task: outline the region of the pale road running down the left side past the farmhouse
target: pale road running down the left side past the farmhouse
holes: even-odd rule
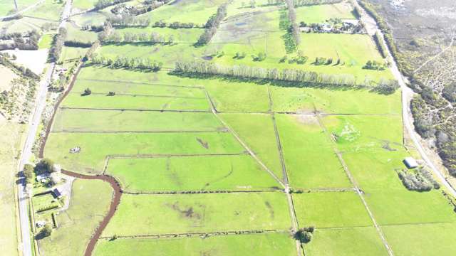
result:
[[[66,25],[66,20],[71,11],[72,1],[69,0],[66,2],[66,6],[63,9],[61,16],[61,23],[59,27],[64,27]],[[36,95],[36,105],[33,110],[33,115],[28,121],[28,134],[26,137],[26,142],[24,144],[24,149],[22,150],[21,159],[19,161],[19,171],[24,169],[24,165],[28,163],[28,160],[32,156],[32,148],[35,142],[36,133],[38,132],[38,125],[41,123],[41,114],[43,114],[44,107],[46,107],[46,93],[48,91],[49,82],[53,75],[54,67],[56,63],[51,63],[49,68],[41,80],[38,88],[38,93]],[[21,174],[23,176],[23,174]],[[32,245],[31,245],[31,233],[30,233],[30,220],[28,218],[28,193],[26,191],[26,184],[24,183],[24,178],[21,179],[21,183],[18,186],[18,196],[19,196],[19,220],[21,222],[21,237],[22,237],[22,255],[31,256],[32,255]]]

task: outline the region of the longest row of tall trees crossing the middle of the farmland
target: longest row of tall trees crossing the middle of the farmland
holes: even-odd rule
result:
[[[319,85],[338,85],[338,86],[366,86],[374,87],[375,82],[366,78],[366,80],[357,84],[356,77],[351,74],[328,75],[306,70],[276,68],[259,68],[246,65],[224,66],[217,63],[202,61],[194,62],[177,62],[175,63],[175,73],[188,75],[227,75],[236,78],[252,78],[261,80],[278,80],[287,82],[311,82]],[[384,85],[397,88],[397,82],[394,80],[383,80]]]

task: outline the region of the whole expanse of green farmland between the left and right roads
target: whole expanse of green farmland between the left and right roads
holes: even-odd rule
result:
[[[37,29],[53,70],[25,167],[33,255],[456,254],[455,198],[410,139],[358,1],[21,15],[0,24]]]

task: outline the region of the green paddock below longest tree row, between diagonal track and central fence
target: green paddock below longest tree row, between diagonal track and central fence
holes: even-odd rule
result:
[[[269,111],[269,97],[266,85],[214,79],[206,80],[204,87],[209,92],[217,111]]]

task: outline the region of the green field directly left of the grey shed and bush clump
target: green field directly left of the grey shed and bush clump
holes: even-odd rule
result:
[[[403,159],[407,156],[404,150],[376,149],[343,154],[343,160],[365,190],[403,189],[397,171],[405,169]]]

